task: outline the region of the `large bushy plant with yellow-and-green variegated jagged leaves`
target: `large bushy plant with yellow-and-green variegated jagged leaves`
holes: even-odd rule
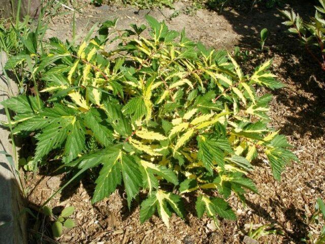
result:
[[[298,161],[267,126],[272,96],[255,93],[283,85],[269,71],[271,60],[244,74],[226,51],[146,18],[150,35],[144,25],[121,31],[116,20],[106,21],[79,46],[52,38],[43,55],[16,60],[33,66],[41,99],[3,103],[16,113],[13,133],[35,137],[36,167],[55,159],[79,170],[76,176],[98,168],[93,203],[118,185],[128,206],[146,194],[141,222],[155,212],[167,226],[172,212],[184,218],[188,194],[197,198],[199,218],[234,220],[226,200],[257,193],[249,178],[257,156],[268,159],[277,180]]]

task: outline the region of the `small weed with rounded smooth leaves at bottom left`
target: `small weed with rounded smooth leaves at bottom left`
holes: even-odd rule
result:
[[[63,227],[67,229],[75,227],[75,222],[72,219],[68,218],[73,215],[74,211],[75,207],[69,206],[64,208],[59,216],[55,216],[53,215],[52,208],[49,206],[43,207],[43,214],[54,219],[54,223],[51,226],[54,237],[60,237],[63,234]]]

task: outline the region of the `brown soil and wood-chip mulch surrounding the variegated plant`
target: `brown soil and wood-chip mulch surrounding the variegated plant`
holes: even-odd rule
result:
[[[82,2],[81,2],[82,3]],[[184,9],[188,3],[177,3],[176,9]],[[301,15],[312,16],[313,6],[294,2],[291,4]],[[288,8],[288,6],[287,6]],[[308,233],[317,234],[320,225],[311,223],[318,197],[325,198],[325,77],[320,68],[304,51],[303,47],[285,33],[279,12],[273,9],[237,11],[224,9],[221,14],[202,9],[193,15],[180,14],[170,19],[174,10],[138,10],[133,7],[86,5],[76,14],[77,33],[85,35],[95,22],[119,17],[118,28],[130,23],[145,23],[144,16],[150,14],[158,20],[165,20],[171,29],[181,31],[184,27],[188,37],[214,48],[241,47],[249,54],[242,66],[251,70],[267,58],[273,58],[273,72],[286,87],[273,93],[270,125],[281,130],[294,146],[294,153],[301,163],[289,165],[277,182],[267,163],[262,159],[255,162],[255,171],[250,176],[259,189],[259,194],[246,195],[243,205],[236,196],[229,203],[237,209],[237,221],[220,220],[219,228],[203,217],[198,220],[193,209],[194,199],[189,196],[186,203],[187,217],[182,220],[171,218],[170,229],[156,216],[144,224],[139,221],[139,205],[134,202],[131,210],[126,206],[125,194],[118,189],[100,203],[90,203],[93,181],[83,178],[56,195],[50,206],[75,206],[73,219],[76,227],[67,231],[59,243],[243,243],[245,234],[265,224],[273,224],[283,233],[267,235],[259,243],[300,243]],[[266,50],[259,51],[259,31],[269,29],[270,36]],[[71,39],[72,14],[56,16],[49,26],[47,37],[57,36]],[[259,91],[261,94],[265,90]],[[43,169],[46,172],[48,169]],[[33,176],[26,173],[26,188],[30,206],[40,206],[62,184],[67,175],[44,176],[44,172]],[[44,222],[47,223],[47,222]],[[32,230],[43,232],[40,238],[30,243],[53,243],[46,235],[49,224]]]

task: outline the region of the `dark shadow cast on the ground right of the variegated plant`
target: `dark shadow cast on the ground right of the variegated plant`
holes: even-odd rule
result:
[[[313,1],[290,1],[285,9],[294,9],[305,20],[315,13]],[[280,56],[274,73],[283,77],[289,88],[276,90],[277,102],[289,108],[286,113],[286,123],[282,125],[281,133],[286,135],[319,138],[325,130],[325,76],[304,47],[287,34],[286,27],[281,24],[284,18],[276,8],[256,8],[252,11],[226,8],[220,13],[225,17],[238,35],[238,46],[252,50],[259,48],[259,32],[267,27],[269,38],[266,41],[268,51],[262,58]],[[314,50],[317,55],[318,50]],[[319,53],[319,51],[318,51]],[[255,66],[258,64],[254,64]],[[292,88],[295,87],[295,88]]]

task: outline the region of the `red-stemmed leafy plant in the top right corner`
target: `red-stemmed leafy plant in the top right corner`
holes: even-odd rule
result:
[[[325,0],[319,0],[319,3],[320,6],[315,6],[315,16],[311,17],[309,22],[304,22],[299,14],[296,14],[293,10],[291,12],[284,10],[281,13],[288,19],[283,24],[290,26],[289,32],[298,36],[308,53],[321,69],[325,71],[325,19],[323,17],[325,14]],[[319,55],[313,53],[312,47],[318,48]]]

